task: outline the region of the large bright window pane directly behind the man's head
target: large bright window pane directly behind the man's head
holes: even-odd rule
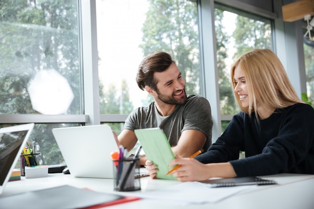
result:
[[[152,101],[135,77],[143,57],[156,51],[173,56],[188,94],[201,93],[195,2],[96,0],[96,6],[101,114],[129,114]]]

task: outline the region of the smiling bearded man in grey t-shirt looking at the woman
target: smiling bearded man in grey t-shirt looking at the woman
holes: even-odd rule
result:
[[[154,101],[129,114],[118,136],[119,144],[131,150],[137,142],[135,129],[159,127],[177,156],[207,151],[213,127],[210,104],[204,97],[186,94],[185,81],[169,54],[156,52],[145,57],[136,82]],[[140,164],[145,165],[145,161],[146,157],[141,156]]]

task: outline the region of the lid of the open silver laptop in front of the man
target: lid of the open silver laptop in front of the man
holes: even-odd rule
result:
[[[71,175],[113,178],[110,153],[118,146],[109,125],[54,128],[52,132]]]

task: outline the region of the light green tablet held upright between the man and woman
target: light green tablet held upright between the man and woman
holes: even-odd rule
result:
[[[175,166],[169,167],[168,164],[176,156],[171,149],[168,138],[160,128],[144,128],[134,130],[135,135],[141,144],[148,160],[158,165],[159,171],[156,174],[160,179],[177,180],[171,174],[166,173]]]

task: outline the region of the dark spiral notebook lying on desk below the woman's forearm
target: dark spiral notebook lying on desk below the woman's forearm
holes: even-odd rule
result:
[[[209,179],[205,181],[199,181],[201,183],[209,184],[210,187],[223,187],[223,186],[244,186],[244,185],[269,185],[277,184],[274,180],[263,179],[256,176],[249,177],[235,177],[235,178],[217,178]]]

